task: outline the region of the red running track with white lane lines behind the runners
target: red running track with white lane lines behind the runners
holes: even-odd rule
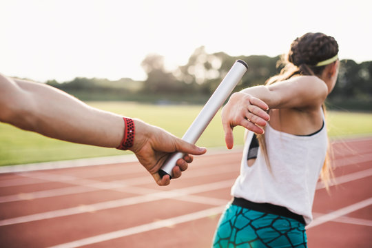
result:
[[[318,184],[309,247],[371,247],[372,137],[333,150],[338,184]],[[131,159],[1,173],[0,247],[210,247],[240,154],[196,157],[168,187]]]

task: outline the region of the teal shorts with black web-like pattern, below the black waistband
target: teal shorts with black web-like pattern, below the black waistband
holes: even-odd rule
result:
[[[213,247],[307,247],[307,236],[304,224],[297,220],[229,204],[218,223]]]

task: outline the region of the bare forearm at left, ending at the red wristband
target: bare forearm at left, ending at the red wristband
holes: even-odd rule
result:
[[[63,141],[117,147],[123,118],[49,85],[0,77],[0,121]]]

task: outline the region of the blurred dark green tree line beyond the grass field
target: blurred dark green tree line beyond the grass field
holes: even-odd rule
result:
[[[224,52],[208,54],[202,46],[194,51],[186,65],[181,65],[172,72],[165,69],[163,56],[147,55],[141,63],[147,73],[145,81],[128,78],[118,81],[76,78],[64,83],[47,83],[74,94],[83,101],[205,103],[236,59],[246,61],[249,69],[235,92],[263,84],[282,69],[277,65],[280,56],[229,56]],[[372,61],[340,62],[338,82],[329,96],[329,107],[372,110]]]

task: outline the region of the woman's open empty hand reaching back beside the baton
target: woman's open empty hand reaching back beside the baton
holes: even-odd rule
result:
[[[237,125],[247,128],[256,134],[263,134],[270,116],[267,114],[269,106],[250,94],[236,92],[223,107],[221,114],[225,143],[228,149],[234,146],[233,129]]]

